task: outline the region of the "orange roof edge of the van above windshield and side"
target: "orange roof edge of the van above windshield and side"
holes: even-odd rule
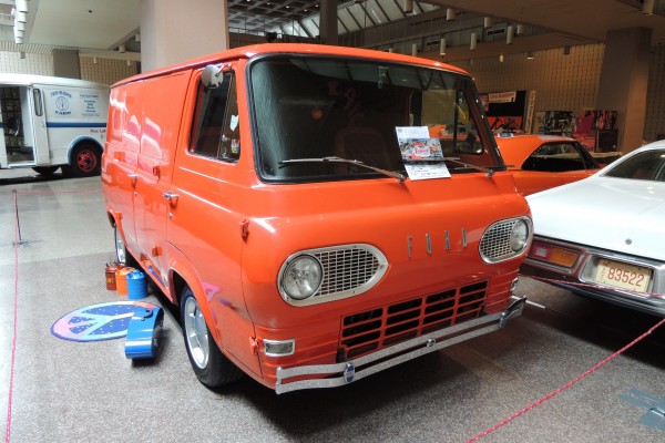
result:
[[[309,43],[263,43],[254,44],[248,47],[241,47],[231,49],[223,52],[205,55],[198,59],[193,59],[183,63],[173,64],[171,66],[156,69],[149,71],[143,74],[134,75],[129,79],[124,79],[113,84],[112,87],[120,86],[122,84],[135,82],[139,80],[145,80],[158,75],[165,75],[175,73],[178,71],[204,68],[208,64],[219,63],[228,60],[237,59],[249,59],[260,54],[274,54],[274,53],[290,53],[290,54],[320,54],[320,55],[344,55],[350,58],[372,59],[381,60],[387,62],[401,62],[409,64],[418,64],[430,68],[446,69],[451,72],[469,75],[469,73],[457,66],[450,64],[437,62],[434,60],[421,59],[411,55],[403,55],[392,52],[382,52],[375,50],[347,48],[347,47],[334,47],[328,44],[309,44]]]

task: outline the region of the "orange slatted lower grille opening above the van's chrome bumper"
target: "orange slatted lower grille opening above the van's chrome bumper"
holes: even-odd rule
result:
[[[361,356],[480,317],[487,281],[449,289],[344,318],[338,360]]]

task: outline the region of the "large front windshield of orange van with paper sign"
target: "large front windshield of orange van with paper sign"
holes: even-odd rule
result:
[[[399,177],[422,146],[427,155],[418,159],[447,159],[451,175],[504,168],[466,75],[279,55],[254,62],[249,80],[257,169],[266,181]],[[405,133],[417,140],[405,143]]]

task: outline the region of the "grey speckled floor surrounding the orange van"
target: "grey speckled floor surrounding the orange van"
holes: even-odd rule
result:
[[[99,177],[44,181],[0,171],[0,431],[10,442],[462,442],[513,414],[487,442],[659,442],[631,389],[665,396],[665,327],[569,389],[523,409],[633,341],[659,319],[530,279],[502,331],[335,390],[276,395],[253,380],[197,382],[166,315],[160,353],[132,363],[124,340],[51,333],[74,309],[119,301]],[[17,190],[14,193],[13,190]],[[18,210],[17,210],[18,209]],[[17,212],[19,214],[20,240]],[[151,295],[150,302],[163,299]]]

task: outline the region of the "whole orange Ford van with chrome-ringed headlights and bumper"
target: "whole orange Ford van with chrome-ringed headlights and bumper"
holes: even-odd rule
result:
[[[342,385],[522,311],[529,207],[453,66],[265,44],[141,74],[112,86],[102,182],[209,387]]]

